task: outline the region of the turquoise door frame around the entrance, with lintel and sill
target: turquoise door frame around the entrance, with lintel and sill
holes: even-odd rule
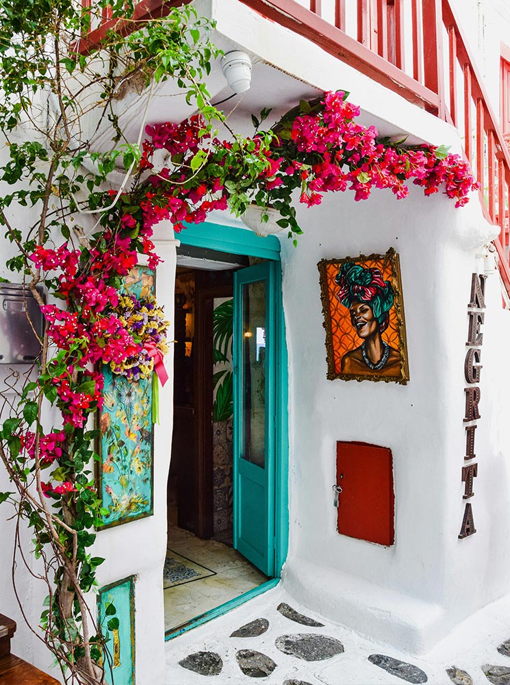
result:
[[[276,367],[276,389],[275,389],[275,488],[274,500],[271,505],[274,510],[275,518],[275,560],[273,575],[275,578],[269,580],[258,588],[250,590],[248,593],[236,597],[216,609],[197,616],[186,626],[178,630],[170,631],[165,639],[170,640],[177,635],[190,630],[196,625],[201,625],[205,621],[216,618],[221,614],[239,606],[244,601],[269,590],[278,582],[281,568],[288,551],[289,536],[289,510],[288,510],[288,477],[289,477],[289,439],[288,439],[288,357],[287,345],[285,343],[285,320],[283,316],[283,301],[281,297],[281,262],[280,262],[280,242],[275,236],[259,238],[254,233],[241,228],[223,226],[216,223],[203,223],[200,225],[188,225],[181,233],[176,234],[177,240],[182,245],[192,247],[202,247],[213,249],[219,252],[244,255],[248,257],[259,257],[271,260],[274,271],[274,298],[275,298],[275,349],[277,357]]]

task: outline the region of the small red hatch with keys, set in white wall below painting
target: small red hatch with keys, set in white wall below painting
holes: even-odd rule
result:
[[[340,493],[337,530],[379,545],[395,540],[392,451],[367,443],[337,443]]]

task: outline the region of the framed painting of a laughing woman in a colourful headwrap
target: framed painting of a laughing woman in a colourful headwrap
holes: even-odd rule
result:
[[[406,384],[409,380],[400,262],[385,255],[318,263],[327,377]]]

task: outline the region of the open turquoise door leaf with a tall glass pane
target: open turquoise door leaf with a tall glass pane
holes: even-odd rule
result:
[[[234,275],[234,547],[275,575],[275,264]]]

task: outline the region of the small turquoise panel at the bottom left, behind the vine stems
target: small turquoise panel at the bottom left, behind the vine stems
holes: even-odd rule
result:
[[[114,613],[113,609],[115,610]],[[107,685],[135,684],[135,605],[134,577],[105,586],[97,598],[101,632],[108,634],[103,659]],[[108,622],[118,619],[118,627],[108,629]],[[116,622],[115,622],[116,625]]]

